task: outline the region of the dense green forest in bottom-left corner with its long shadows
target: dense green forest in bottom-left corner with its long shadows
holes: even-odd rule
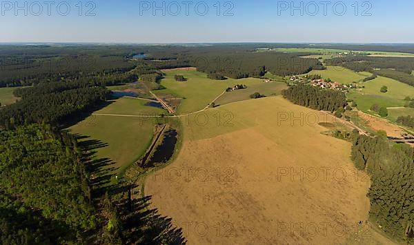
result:
[[[130,185],[112,198],[105,175],[93,177],[104,161],[84,147],[48,124],[0,131],[1,244],[185,243],[149,198],[131,199]]]

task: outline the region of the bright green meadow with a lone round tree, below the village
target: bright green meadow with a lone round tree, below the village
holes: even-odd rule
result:
[[[379,104],[384,107],[401,107],[406,104],[404,98],[414,96],[414,87],[387,77],[377,77],[364,84],[365,88],[348,94],[348,98],[357,102],[358,109],[364,112]],[[380,92],[382,86],[388,87],[388,92]],[[392,117],[391,117],[392,118]]]

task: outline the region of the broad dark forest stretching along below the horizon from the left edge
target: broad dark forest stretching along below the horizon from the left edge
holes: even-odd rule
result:
[[[92,80],[103,86],[156,82],[160,69],[194,66],[212,79],[302,74],[324,69],[300,54],[255,52],[257,45],[215,46],[0,46],[0,87]],[[134,59],[135,54],[147,57]],[[303,54],[308,55],[308,54]]]

